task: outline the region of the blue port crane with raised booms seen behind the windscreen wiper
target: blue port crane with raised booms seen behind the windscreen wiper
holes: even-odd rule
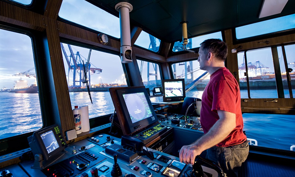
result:
[[[72,48],[71,48],[71,45],[70,44],[67,44],[68,45],[68,48],[70,50],[70,53],[71,55],[68,56],[65,49],[64,49],[64,46],[62,43],[60,43],[60,46],[62,48],[62,51],[63,51],[63,55],[65,56],[65,59],[67,61],[67,65],[69,67],[68,69],[68,75],[70,73],[70,71],[73,72],[73,86],[72,87],[81,87],[81,83],[83,83],[83,86],[84,86],[84,83],[83,81],[85,81],[85,77],[84,77],[84,67],[86,67],[86,73],[87,71],[88,72],[88,81],[89,81],[89,85],[90,84],[90,75],[91,74],[94,74],[94,73],[101,73],[102,72],[102,69],[100,68],[94,68],[94,67],[90,67],[91,64],[89,62],[86,62],[85,64],[83,64],[83,60],[81,58],[81,55],[80,55],[80,52],[78,51],[76,54],[74,54]],[[91,53],[91,49],[89,51],[89,55],[88,55],[88,58],[90,58],[90,53]],[[71,61],[74,63],[74,64],[71,64]],[[89,60],[88,60],[89,61]],[[86,66],[84,66],[86,65]],[[76,77],[78,79],[76,79]],[[79,83],[79,84],[76,84],[76,83]],[[68,85],[69,85],[69,77],[68,77]]]

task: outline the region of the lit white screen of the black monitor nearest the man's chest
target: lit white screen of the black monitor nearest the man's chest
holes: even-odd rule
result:
[[[164,82],[166,97],[183,96],[182,81]]]

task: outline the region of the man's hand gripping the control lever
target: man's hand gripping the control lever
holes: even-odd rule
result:
[[[179,151],[179,160],[186,164],[194,164],[197,155],[200,155],[201,151],[195,144],[188,146],[182,146]]]

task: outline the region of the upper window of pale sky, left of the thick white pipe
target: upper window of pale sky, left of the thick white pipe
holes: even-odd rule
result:
[[[63,0],[59,10],[59,17],[120,38],[119,18],[87,1]]]

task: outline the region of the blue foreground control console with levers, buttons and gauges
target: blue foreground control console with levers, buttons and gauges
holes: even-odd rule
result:
[[[127,153],[130,159],[126,160],[126,152],[130,153]],[[154,149],[144,148],[142,152],[134,152],[122,146],[121,139],[107,134],[69,144],[59,160],[42,170],[31,168],[32,165],[32,160],[18,164],[28,176],[33,177],[182,177],[183,174],[190,174],[192,167],[181,163],[178,157]],[[7,170],[13,176],[18,174],[18,171]],[[206,168],[203,170],[206,171]]]

